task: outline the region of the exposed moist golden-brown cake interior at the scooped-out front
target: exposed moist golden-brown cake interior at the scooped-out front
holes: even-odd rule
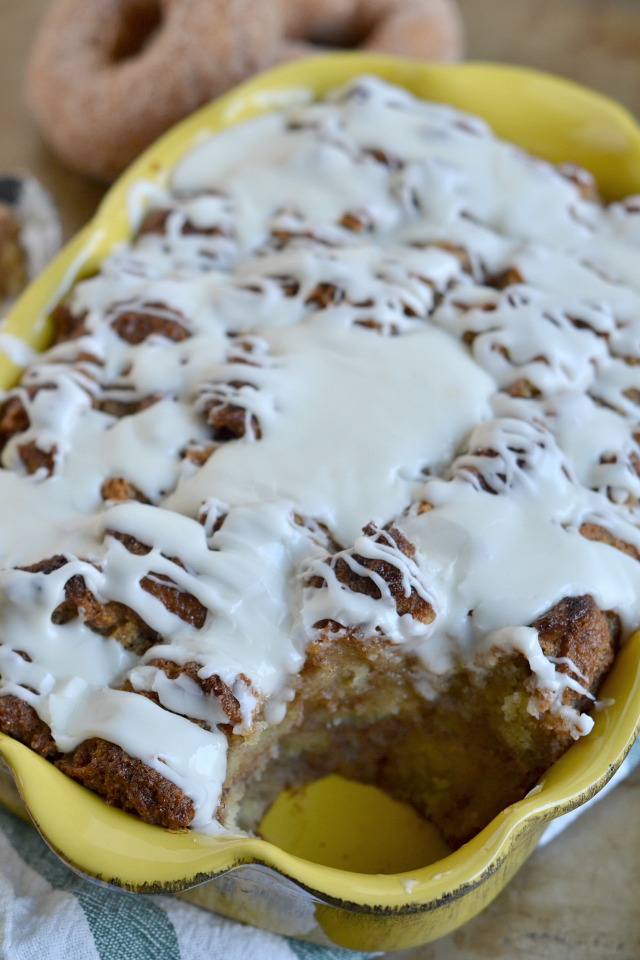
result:
[[[617,648],[616,619],[580,598],[540,628],[550,656],[582,650],[580,669],[597,691]],[[285,720],[232,744],[225,822],[253,832],[281,790],[339,773],[411,804],[457,847],[521,799],[573,742],[536,701],[524,656],[490,656],[428,698],[416,684],[421,672],[388,641],[320,636]]]

